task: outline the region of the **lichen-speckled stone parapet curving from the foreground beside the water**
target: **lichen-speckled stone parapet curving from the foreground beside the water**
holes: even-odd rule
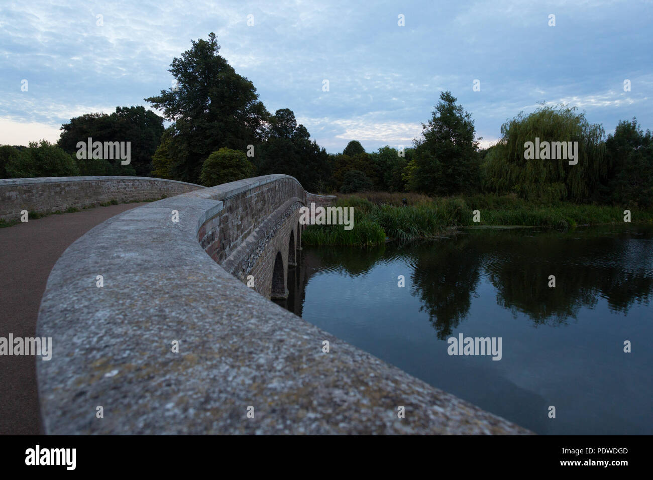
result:
[[[39,312],[38,336],[52,337],[52,359],[37,361],[45,432],[529,433],[237,278],[268,262],[278,237],[295,236],[305,202],[292,177],[252,178],[140,206],[74,242]]]

